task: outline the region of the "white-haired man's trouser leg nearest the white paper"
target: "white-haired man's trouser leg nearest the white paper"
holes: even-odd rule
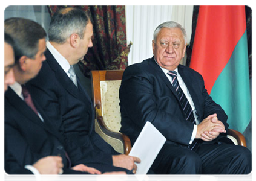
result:
[[[159,180],[197,181],[201,175],[200,157],[185,147],[165,144],[151,169]]]

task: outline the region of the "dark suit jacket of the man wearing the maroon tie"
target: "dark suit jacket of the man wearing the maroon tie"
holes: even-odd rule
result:
[[[25,165],[33,165],[37,160],[49,155],[59,155],[64,164],[62,180],[96,180],[96,177],[68,169],[68,160],[65,156],[67,151],[72,165],[86,164],[82,152],[77,149],[66,148],[64,150],[64,139],[54,125],[47,119],[38,104],[34,101],[36,109],[41,114],[41,121],[27,104],[12,90],[8,89],[4,94],[4,150],[16,159],[5,157],[7,173]]]

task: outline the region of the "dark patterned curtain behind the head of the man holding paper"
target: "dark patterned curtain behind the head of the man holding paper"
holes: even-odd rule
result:
[[[91,70],[125,69],[130,46],[126,46],[125,5],[48,5],[51,16],[59,8],[76,7],[93,19],[93,47],[79,67],[86,77]]]

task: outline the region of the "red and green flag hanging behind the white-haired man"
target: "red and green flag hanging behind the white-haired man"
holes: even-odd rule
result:
[[[200,5],[190,67],[243,133],[251,120],[245,5]]]

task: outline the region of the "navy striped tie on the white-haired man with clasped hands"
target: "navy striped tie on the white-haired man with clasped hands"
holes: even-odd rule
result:
[[[186,98],[186,95],[182,91],[182,88],[180,88],[180,84],[177,79],[177,72],[169,71],[167,74],[172,77],[172,86],[174,87],[174,89],[179,97],[179,101],[180,101],[180,104],[182,105],[182,109],[183,109],[186,120],[195,124],[194,113],[193,113],[192,108],[188,102],[188,99]],[[192,150],[195,147],[196,143],[197,143],[197,141],[194,140],[192,142],[192,144],[188,146],[188,148]]]

